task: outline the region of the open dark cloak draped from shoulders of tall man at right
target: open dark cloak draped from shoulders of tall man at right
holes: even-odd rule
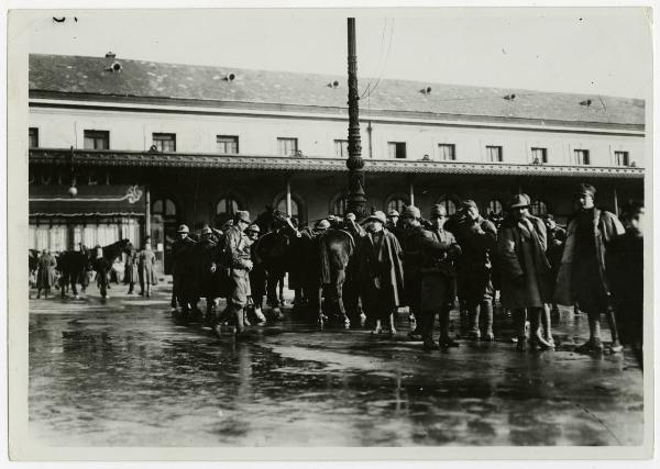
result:
[[[618,235],[625,233],[624,226],[618,221],[614,213],[607,211],[601,211],[598,209],[594,209],[594,241],[596,246],[596,263],[597,263],[597,279],[593,279],[597,281],[600,284],[600,294],[598,292],[593,292],[594,302],[598,303],[598,308],[605,308],[608,301],[609,287],[607,284],[607,275],[606,275],[606,265],[605,265],[605,256],[607,246],[609,243]],[[557,275],[557,286],[554,291],[554,300],[559,304],[572,305],[575,303],[576,290],[580,288],[581,283],[584,282],[584,279],[573,279],[573,261],[575,258],[576,249],[580,249],[578,246],[578,220],[573,217],[569,222],[569,227],[566,230],[566,243],[564,245],[564,250],[561,257],[561,264],[559,266],[559,272]]]

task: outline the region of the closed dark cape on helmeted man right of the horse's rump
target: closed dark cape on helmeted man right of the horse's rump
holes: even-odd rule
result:
[[[374,245],[371,233],[360,239],[358,271],[363,301],[373,303],[375,295],[378,295],[381,305],[387,308],[394,309],[404,303],[404,266],[400,253],[398,239],[386,228],[383,228],[380,246]],[[365,304],[366,309],[372,305]]]

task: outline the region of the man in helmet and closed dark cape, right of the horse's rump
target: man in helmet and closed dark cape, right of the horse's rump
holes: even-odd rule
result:
[[[394,234],[385,228],[385,213],[376,211],[365,220],[366,235],[358,247],[358,272],[361,298],[374,334],[396,334],[394,312],[404,301],[402,248]]]

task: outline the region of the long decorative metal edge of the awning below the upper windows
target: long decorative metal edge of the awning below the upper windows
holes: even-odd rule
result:
[[[346,171],[345,159],[261,155],[218,155],[86,150],[66,148],[30,149],[30,163],[41,165],[208,168],[282,171]],[[364,170],[375,174],[510,175],[580,178],[641,179],[645,168],[559,165],[513,165],[506,163],[425,161],[364,159]]]

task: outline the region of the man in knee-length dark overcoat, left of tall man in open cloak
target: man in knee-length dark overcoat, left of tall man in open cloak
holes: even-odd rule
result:
[[[532,346],[554,346],[546,306],[552,300],[552,270],[546,257],[546,225],[529,213],[529,204],[527,194],[514,196],[497,239],[502,266],[502,305],[514,313],[519,350],[527,348],[527,316]]]

